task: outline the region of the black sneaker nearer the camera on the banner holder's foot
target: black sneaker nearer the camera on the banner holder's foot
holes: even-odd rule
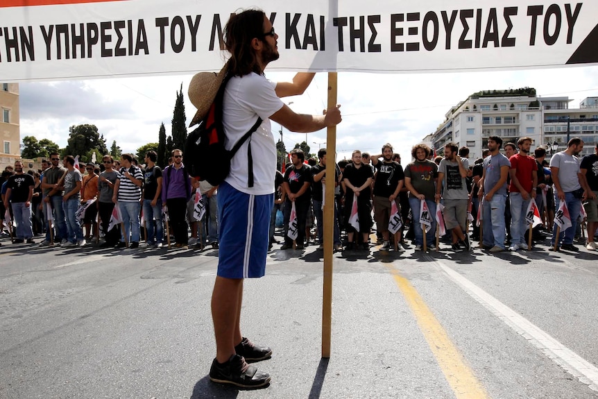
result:
[[[256,366],[247,364],[239,355],[232,355],[228,362],[222,364],[214,359],[210,368],[210,380],[242,388],[259,388],[270,383],[270,375],[258,373]]]

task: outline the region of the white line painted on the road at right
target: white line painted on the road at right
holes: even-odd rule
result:
[[[506,325],[513,328],[518,334],[527,339],[529,343],[540,349],[549,359],[561,366],[568,373],[577,377],[583,384],[588,384],[592,391],[598,391],[598,368],[590,362],[587,362],[581,356],[556,341],[547,332],[544,332],[531,321],[515,312],[510,307],[504,305],[499,300],[488,294],[483,289],[477,287],[470,280],[457,273],[449,266],[436,261],[441,269],[449,277],[460,285],[465,292],[477,300],[481,305],[490,310],[495,316],[504,321]]]

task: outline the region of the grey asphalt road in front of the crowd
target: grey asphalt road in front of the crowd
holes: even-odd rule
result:
[[[242,330],[266,389],[210,382],[217,250],[0,247],[0,398],[598,398],[598,253],[275,250]]]

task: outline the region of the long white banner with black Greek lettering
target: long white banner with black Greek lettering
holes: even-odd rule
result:
[[[65,4],[67,3],[67,4]],[[47,5],[46,5],[47,4]],[[2,0],[0,79],[221,69],[239,1]],[[273,1],[272,71],[424,72],[598,62],[596,0]]]

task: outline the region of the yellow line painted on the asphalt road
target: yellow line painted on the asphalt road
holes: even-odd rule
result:
[[[490,398],[415,287],[407,278],[402,277],[398,270],[389,264],[387,266],[416,317],[420,330],[456,399]]]

